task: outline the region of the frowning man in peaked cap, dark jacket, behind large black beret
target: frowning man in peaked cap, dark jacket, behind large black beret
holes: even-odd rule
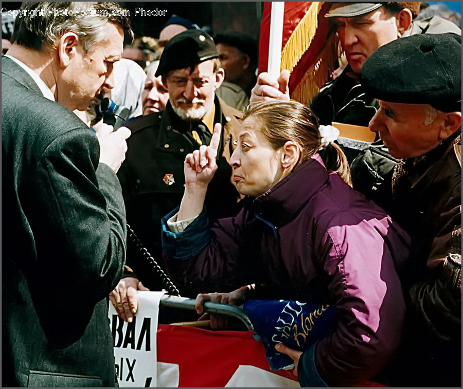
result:
[[[320,124],[340,122],[367,126],[375,115],[378,104],[365,93],[360,84],[360,72],[366,59],[378,47],[402,36],[421,33],[455,32],[461,30],[452,22],[438,16],[413,21],[418,15],[420,2],[333,3],[325,17],[330,19],[346,54],[348,65],[341,75],[328,82],[312,100],[310,107]],[[387,61],[389,63],[390,61]],[[283,70],[278,80],[269,73],[261,73],[253,89],[250,103],[269,98],[288,100],[289,72]],[[384,176],[390,179],[390,170],[396,160],[388,155],[381,141],[370,147],[365,158],[361,154],[352,166],[355,189],[365,193],[387,208],[389,193],[384,191]],[[379,149],[379,150],[378,150]],[[350,162],[357,153],[347,151]],[[363,159],[362,159],[363,158]],[[375,172],[371,174],[370,172]],[[386,192],[386,193],[384,193]]]

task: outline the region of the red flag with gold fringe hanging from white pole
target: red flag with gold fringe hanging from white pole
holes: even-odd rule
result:
[[[328,80],[339,57],[336,36],[324,17],[325,2],[285,2],[281,47],[281,70],[291,72],[292,99],[308,104]],[[267,70],[271,3],[264,3],[260,24],[259,73]]]

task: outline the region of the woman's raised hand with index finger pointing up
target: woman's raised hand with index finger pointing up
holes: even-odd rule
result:
[[[185,184],[203,184],[207,185],[217,170],[217,152],[222,136],[222,125],[217,123],[210,144],[202,145],[199,150],[188,154],[185,158],[184,173]]]

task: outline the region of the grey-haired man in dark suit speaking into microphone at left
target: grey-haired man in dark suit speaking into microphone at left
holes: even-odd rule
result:
[[[79,9],[77,7],[80,7]],[[24,3],[2,58],[3,386],[114,386],[107,297],[126,251],[128,128],[84,110],[121,58],[116,3]],[[64,31],[64,32],[63,32]]]

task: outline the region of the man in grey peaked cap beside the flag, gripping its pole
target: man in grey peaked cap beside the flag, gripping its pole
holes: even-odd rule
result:
[[[333,29],[339,35],[348,66],[339,77],[325,85],[311,103],[320,124],[336,121],[368,125],[376,111],[375,100],[364,96],[365,91],[360,85],[360,73],[363,63],[378,47],[402,36],[414,34],[461,34],[457,26],[438,16],[414,21],[419,9],[420,2],[331,5],[325,17],[329,18]],[[268,73],[262,73],[251,97],[251,104],[269,97],[288,100],[288,78],[287,71],[281,73],[279,82],[270,80]]]

